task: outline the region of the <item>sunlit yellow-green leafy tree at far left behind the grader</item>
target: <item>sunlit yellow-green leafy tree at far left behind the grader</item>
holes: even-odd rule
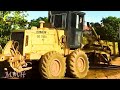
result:
[[[2,47],[9,40],[11,31],[24,28],[27,24],[26,11],[0,11],[0,44]]]

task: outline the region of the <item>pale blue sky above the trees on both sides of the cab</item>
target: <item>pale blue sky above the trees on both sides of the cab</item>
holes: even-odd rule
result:
[[[108,16],[115,16],[120,18],[120,11],[82,11],[85,12],[86,22],[100,22],[102,18]],[[28,11],[28,21],[37,19],[39,17],[48,17],[48,11]]]

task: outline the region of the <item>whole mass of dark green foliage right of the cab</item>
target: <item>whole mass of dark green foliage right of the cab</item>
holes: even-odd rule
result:
[[[120,18],[109,16],[102,18],[101,22],[102,25],[100,23],[92,23],[97,34],[101,36],[101,39],[117,41]]]

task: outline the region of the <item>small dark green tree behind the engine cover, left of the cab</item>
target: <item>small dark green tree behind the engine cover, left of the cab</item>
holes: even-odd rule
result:
[[[29,23],[29,28],[31,28],[32,26],[36,26],[36,27],[40,27],[40,23],[39,21],[45,21],[45,23],[48,23],[48,18],[47,17],[39,17],[37,19],[33,19],[30,21]]]

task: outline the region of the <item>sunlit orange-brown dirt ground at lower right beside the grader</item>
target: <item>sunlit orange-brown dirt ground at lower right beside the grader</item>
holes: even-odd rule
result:
[[[120,57],[115,58],[111,63],[114,65],[120,65]],[[83,79],[120,79],[120,68],[118,69],[90,69],[87,76]]]

